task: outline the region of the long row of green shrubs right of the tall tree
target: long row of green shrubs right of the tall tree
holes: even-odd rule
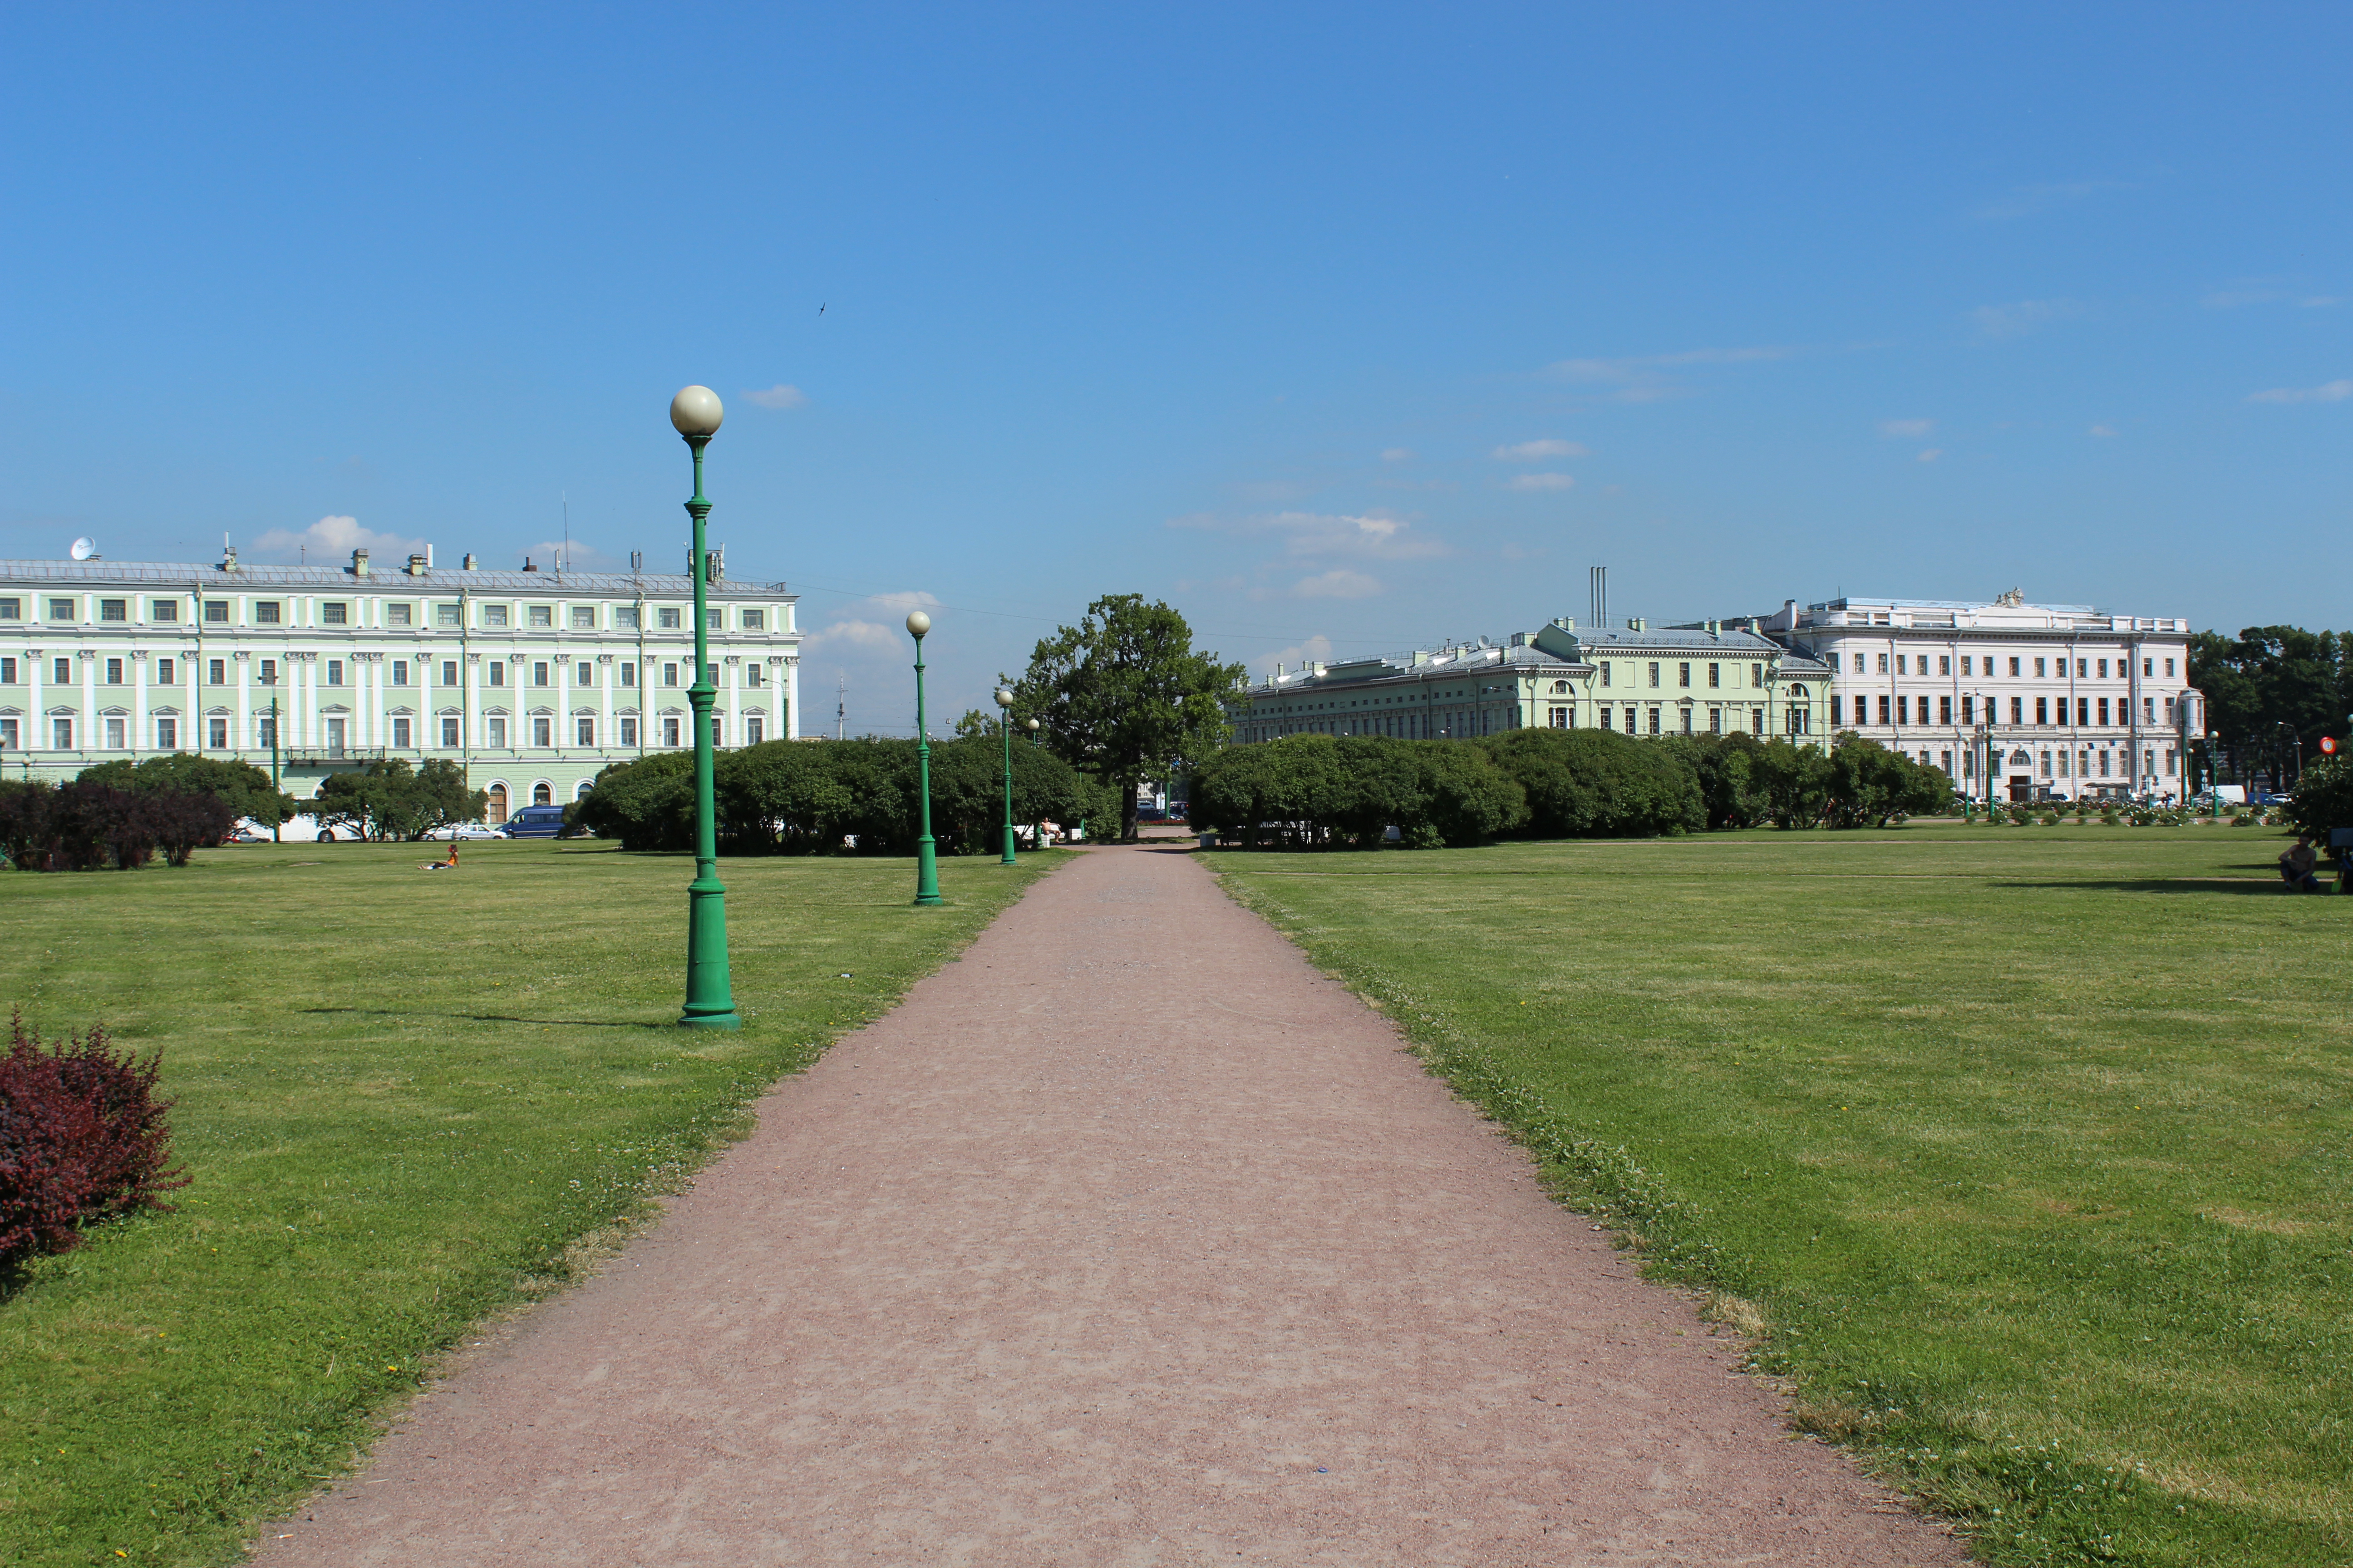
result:
[[[1873,741],[1515,729],[1473,743],[1287,736],[1193,769],[1191,820],[1242,844],[1409,849],[1499,837],[1875,827],[1951,802],[1951,778]]]

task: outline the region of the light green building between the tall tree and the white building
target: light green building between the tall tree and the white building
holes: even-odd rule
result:
[[[1275,670],[1233,703],[1238,741],[1395,736],[1471,741],[1508,729],[1628,736],[1788,736],[1828,745],[1831,672],[1809,654],[1715,623],[1652,630],[1551,621],[1506,642]]]

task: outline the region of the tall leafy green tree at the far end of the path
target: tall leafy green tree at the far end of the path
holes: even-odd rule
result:
[[[1191,773],[1214,752],[1224,698],[1240,684],[1242,665],[1195,651],[1181,614],[1120,592],[1038,642],[1014,712],[1042,719],[1064,762],[1120,790],[1120,839],[1134,839],[1136,785]]]

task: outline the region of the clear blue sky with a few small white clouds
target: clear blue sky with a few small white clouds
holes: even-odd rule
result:
[[[1101,592],[2344,623],[2348,7],[9,7],[0,552],[682,557],[906,724]],[[767,407],[762,407],[767,404]],[[365,534],[360,534],[365,531]],[[826,710],[826,712],[819,712]]]

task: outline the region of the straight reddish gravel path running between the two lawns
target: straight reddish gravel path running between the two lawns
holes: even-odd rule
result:
[[[261,1561],[1965,1561],[1734,1363],[1186,853],[1104,849]]]

